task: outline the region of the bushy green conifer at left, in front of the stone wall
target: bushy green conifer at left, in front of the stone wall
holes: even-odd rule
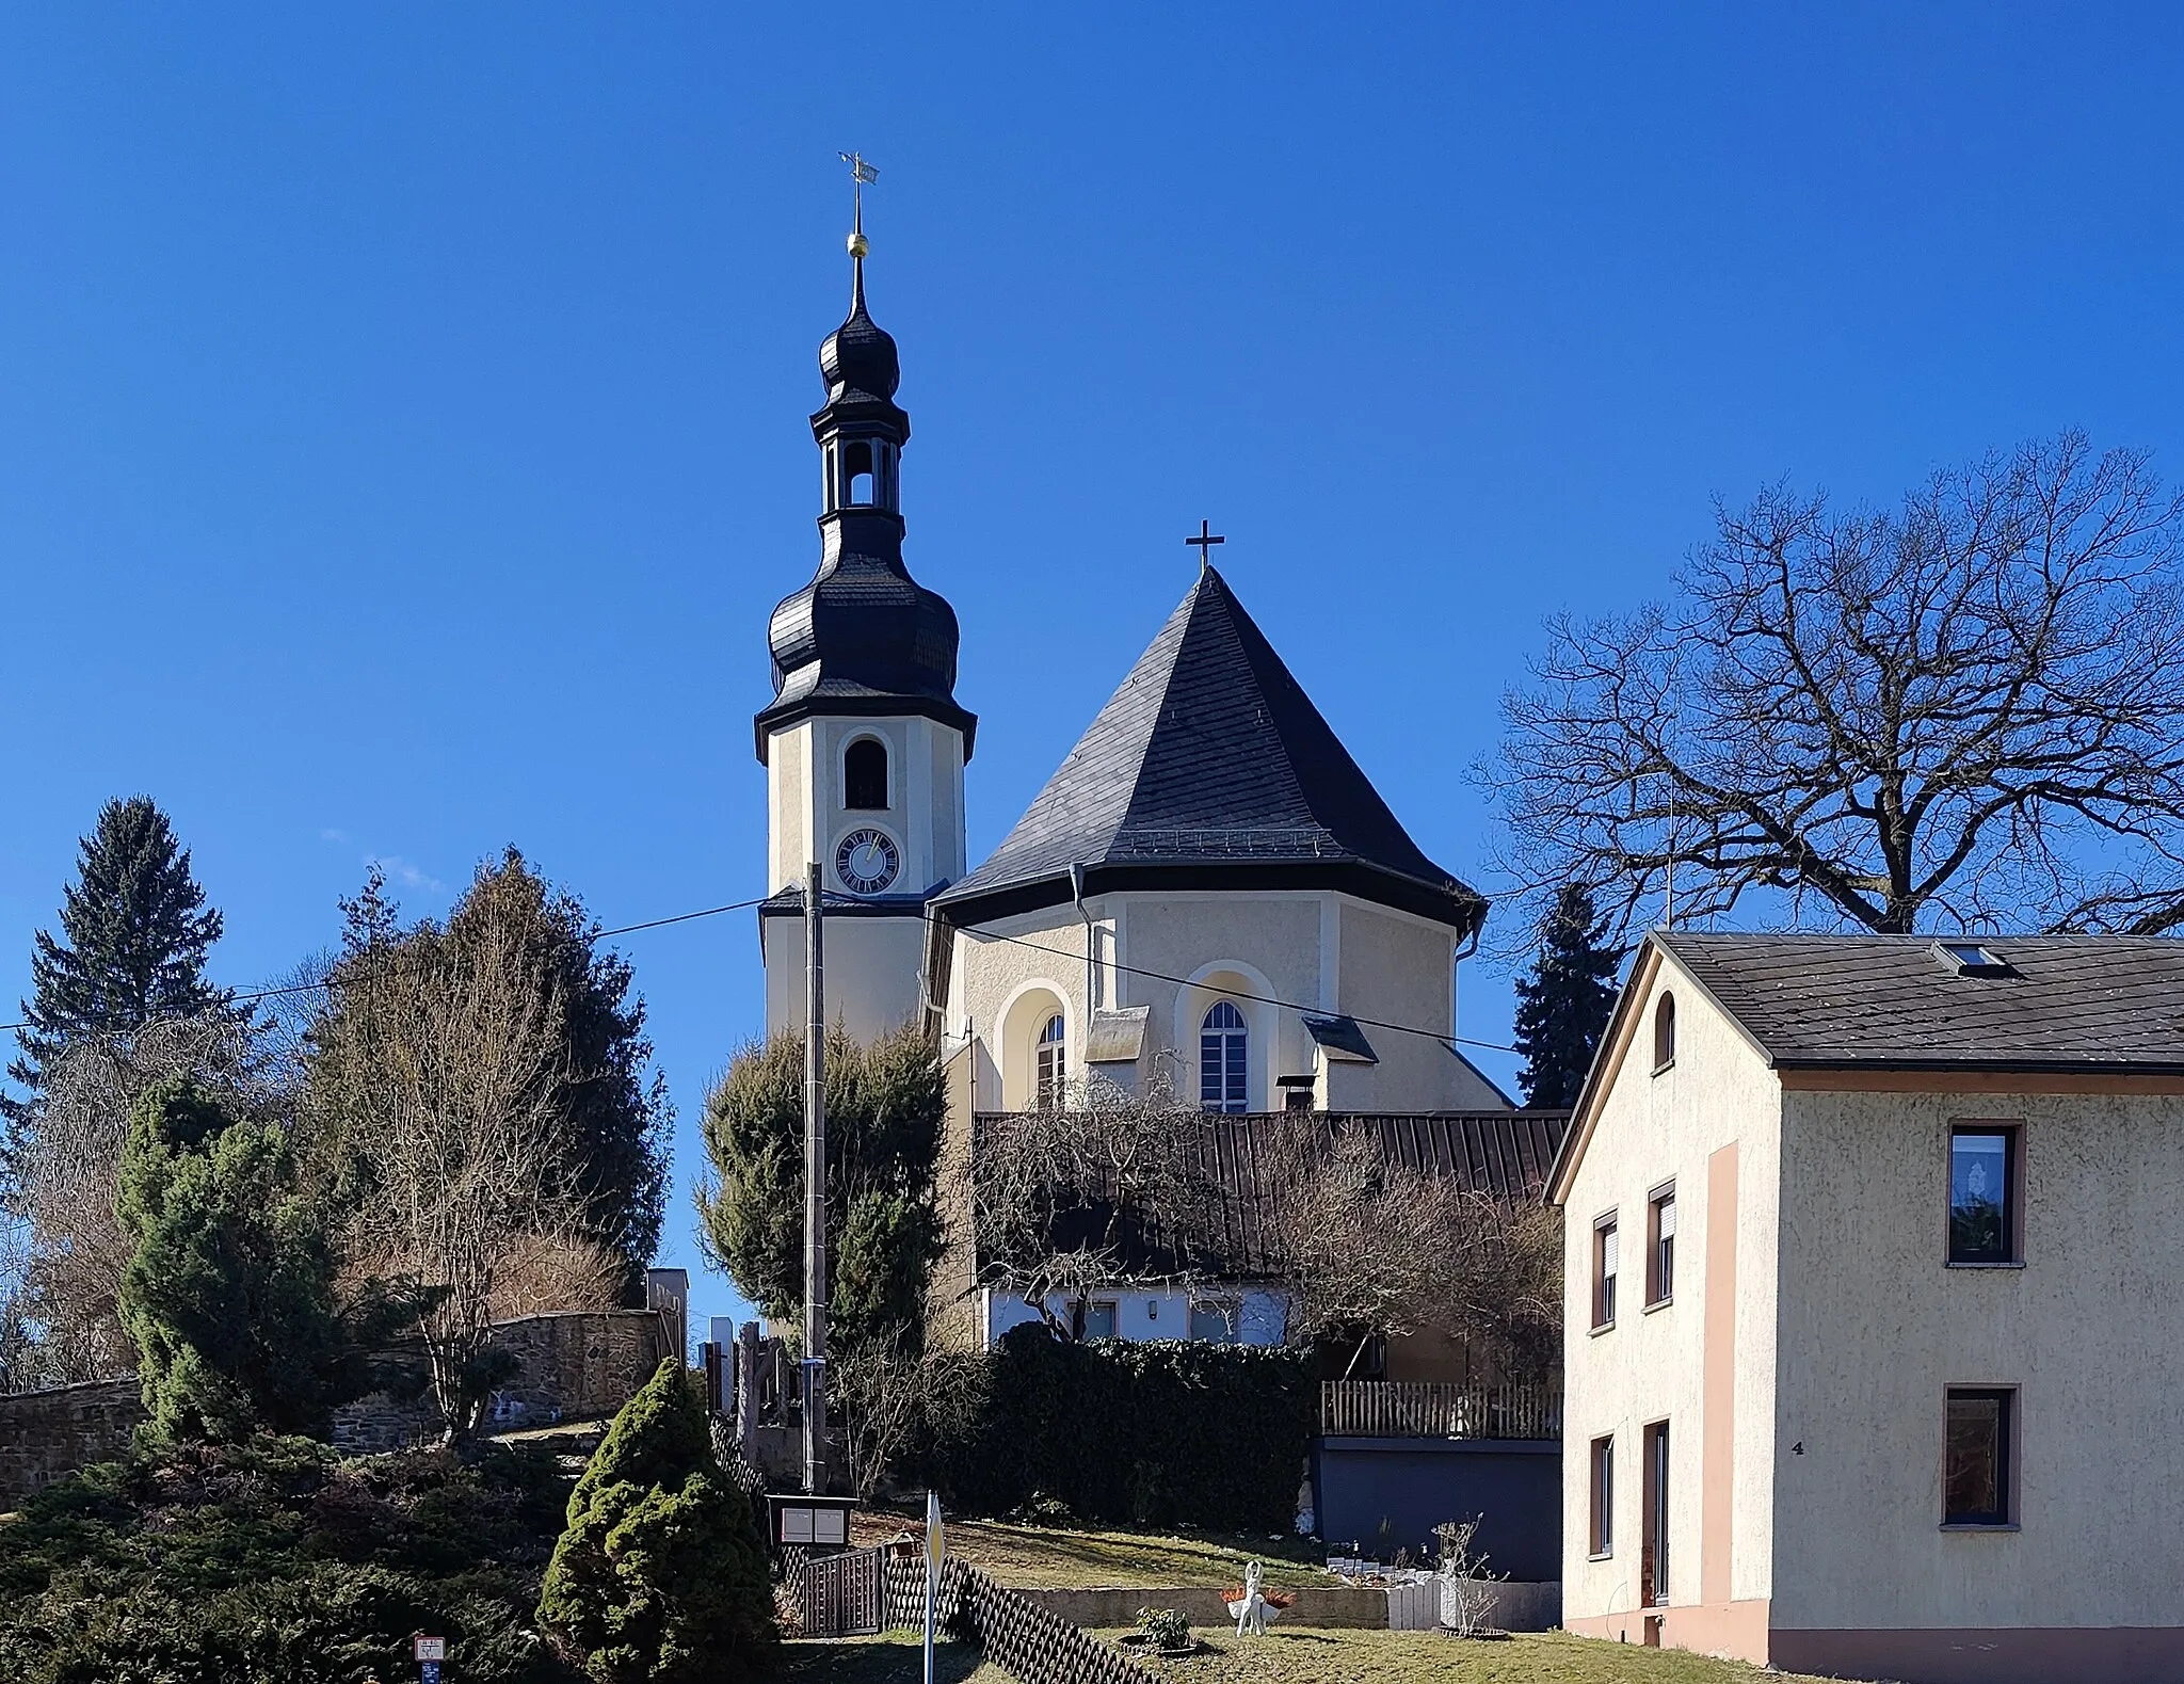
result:
[[[295,1190],[277,1123],[238,1123],[188,1077],[138,1101],[114,1201],[135,1245],[120,1319],[159,1439],[317,1433],[369,1389],[371,1345],[411,1306],[373,1291],[347,1313],[319,1212]]]

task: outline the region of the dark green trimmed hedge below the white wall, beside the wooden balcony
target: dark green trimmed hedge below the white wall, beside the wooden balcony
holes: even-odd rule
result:
[[[985,1359],[981,1407],[922,1470],[970,1514],[1289,1531],[1317,1422],[1306,1352],[1092,1339],[1042,1326]]]

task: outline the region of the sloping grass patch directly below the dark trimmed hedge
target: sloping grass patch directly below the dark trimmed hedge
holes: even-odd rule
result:
[[[904,1516],[865,1511],[856,1516],[856,1542],[893,1538]],[[1326,1588],[1339,1584],[1321,1566],[1324,1544],[1267,1533],[1142,1533],[1061,1527],[1026,1527],[1013,1520],[950,1520],[948,1553],[992,1573],[1020,1590],[1090,1590],[1099,1586],[1164,1588],[1243,1584],[1245,1562],[1267,1564],[1267,1586],[1275,1590]]]

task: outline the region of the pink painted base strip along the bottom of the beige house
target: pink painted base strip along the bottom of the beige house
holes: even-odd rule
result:
[[[1572,1618],[1607,1643],[1658,1643],[1784,1673],[1902,1684],[2184,1684],[2184,1625],[2027,1625],[2001,1629],[1776,1629],[1769,1603],[1649,1608]],[[1647,1627],[1653,1629],[1647,1629]]]

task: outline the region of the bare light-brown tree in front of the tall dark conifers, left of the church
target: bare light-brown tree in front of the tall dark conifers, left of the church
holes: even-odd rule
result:
[[[354,1164],[349,1254],[432,1295],[419,1321],[432,1396],[448,1435],[467,1437],[498,1378],[509,1271],[579,1228],[555,1193],[563,1000],[502,922],[463,946],[428,930],[369,950],[334,968],[330,992],[310,1092]]]

